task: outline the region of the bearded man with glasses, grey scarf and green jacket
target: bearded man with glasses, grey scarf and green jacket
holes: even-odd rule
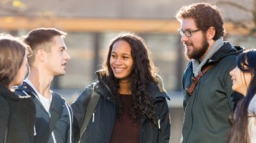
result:
[[[225,28],[217,6],[197,3],[176,14],[184,55],[182,143],[226,142],[228,117],[240,95],[232,91],[230,70],[244,48],[223,41]]]

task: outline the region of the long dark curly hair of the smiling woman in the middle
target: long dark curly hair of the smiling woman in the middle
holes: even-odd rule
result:
[[[134,122],[139,122],[144,115],[157,126],[157,118],[153,111],[153,100],[147,92],[147,85],[156,82],[156,68],[149,58],[149,50],[144,43],[143,38],[134,33],[120,33],[110,43],[107,58],[105,58],[101,75],[106,79],[107,85],[112,89],[114,100],[117,107],[117,117],[122,115],[122,102],[119,99],[119,79],[114,77],[111,65],[109,63],[112,48],[117,41],[127,41],[132,48],[133,67],[130,75],[132,85],[132,103],[130,105],[129,115]]]

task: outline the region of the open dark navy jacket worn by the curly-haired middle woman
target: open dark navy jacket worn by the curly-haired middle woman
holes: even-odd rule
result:
[[[87,130],[82,136],[81,143],[108,143],[112,136],[114,120],[116,117],[116,104],[112,97],[109,87],[104,84],[101,78],[98,77],[96,85],[92,83],[77,97],[72,103],[74,111],[74,140],[79,140],[80,128],[84,121],[84,114],[87,109],[89,94],[94,91],[98,92],[100,97],[96,109],[94,110],[94,120],[90,120]],[[161,82],[162,83],[162,82]],[[163,143],[169,142],[170,121],[169,109],[166,98],[169,99],[167,92],[163,90],[162,84],[150,83],[147,85],[149,95],[154,99],[154,112],[159,119],[159,128],[154,127],[152,122],[142,117],[140,120],[140,143]]]

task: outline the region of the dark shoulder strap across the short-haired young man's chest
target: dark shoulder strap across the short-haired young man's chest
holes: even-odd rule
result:
[[[48,142],[51,132],[54,130],[56,122],[59,120],[63,110],[63,102],[60,95],[55,92],[51,92],[52,95],[52,107],[51,107],[51,118],[49,120],[49,124],[41,134],[36,135],[35,143],[45,143]]]

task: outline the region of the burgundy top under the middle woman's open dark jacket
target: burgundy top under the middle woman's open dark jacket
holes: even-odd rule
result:
[[[129,117],[129,105],[132,95],[120,95],[123,105],[121,121],[117,117],[114,120],[114,129],[110,143],[139,143],[139,123],[134,123]]]

